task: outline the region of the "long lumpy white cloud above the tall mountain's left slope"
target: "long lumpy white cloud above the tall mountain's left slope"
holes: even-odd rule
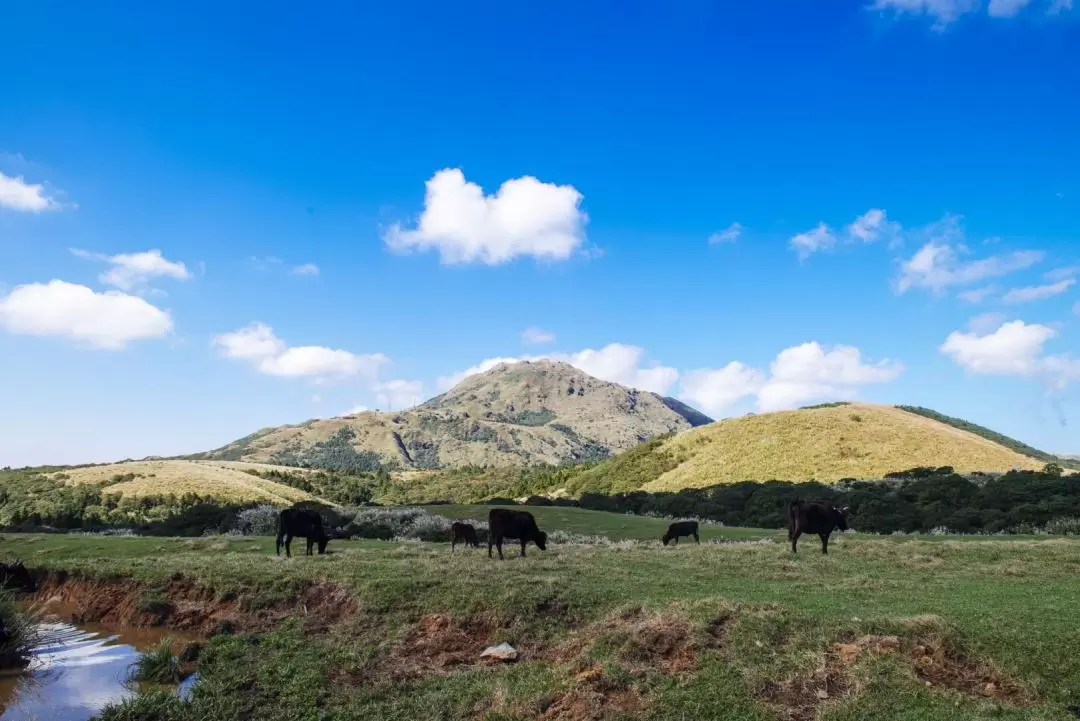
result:
[[[381,353],[357,355],[322,345],[289,348],[262,323],[215,336],[211,344],[227,358],[247,362],[258,372],[280,378],[325,381],[360,376],[374,380],[382,366],[390,363]]]

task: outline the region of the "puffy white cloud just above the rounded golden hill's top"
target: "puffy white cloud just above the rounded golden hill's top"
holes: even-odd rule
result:
[[[816,342],[781,351],[757,397],[762,411],[795,408],[810,400],[851,398],[863,385],[888,383],[904,372],[896,360],[865,364],[858,348],[826,351]]]

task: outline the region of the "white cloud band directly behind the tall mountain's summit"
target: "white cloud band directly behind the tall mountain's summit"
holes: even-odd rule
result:
[[[436,381],[436,385],[441,391],[447,391],[469,376],[485,372],[501,363],[543,359],[568,363],[575,368],[579,368],[600,380],[660,394],[666,393],[675,381],[678,380],[678,371],[675,368],[661,365],[644,365],[644,349],[623,343],[609,343],[599,350],[585,349],[577,353],[549,353],[521,357],[488,358],[467,370],[449,376],[441,376]]]

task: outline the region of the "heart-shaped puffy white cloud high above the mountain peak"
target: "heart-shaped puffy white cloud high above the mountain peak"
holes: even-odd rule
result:
[[[581,199],[572,186],[531,176],[507,180],[485,195],[460,169],[447,168],[428,180],[417,227],[395,223],[383,241],[397,253],[437,250],[444,263],[565,260],[585,242],[589,217],[579,208]]]

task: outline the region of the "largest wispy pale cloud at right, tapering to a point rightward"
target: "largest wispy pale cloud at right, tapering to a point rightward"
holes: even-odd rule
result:
[[[931,241],[901,266],[896,289],[906,293],[912,288],[928,288],[941,293],[951,286],[971,285],[1030,268],[1042,258],[1038,250],[1017,250],[964,262],[956,247]]]

